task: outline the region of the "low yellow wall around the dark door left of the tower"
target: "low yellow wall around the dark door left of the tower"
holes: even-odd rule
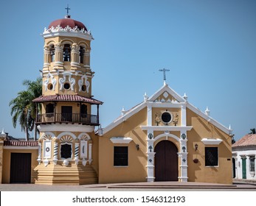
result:
[[[38,149],[4,149],[2,183],[10,183],[10,156],[11,153],[31,153],[31,183],[35,182],[35,166],[38,165]]]

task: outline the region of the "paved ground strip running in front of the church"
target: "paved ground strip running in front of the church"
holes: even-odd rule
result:
[[[256,181],[232,185],[205,182],[130,182],[95,185],[0,184],[0,191],[256,191]]]

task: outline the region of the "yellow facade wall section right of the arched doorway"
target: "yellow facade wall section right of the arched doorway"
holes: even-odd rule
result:
[[[187,125],[193,126],[187,132],[187,163],[188,177],[191,182],[215,182],[232,184],[232,147],[229,135],[213,126],[208,121],[187,109]],[[222,141],[218,147],[218,166],[206,167],[204,145],[202,138],[219,138]],[[195,144],[198,150],[195,150]],[[212,145],[209,145],[212,146]],[[212,146],[214,147],[214,146]],[[193,160],[198,159],[198,163]]]

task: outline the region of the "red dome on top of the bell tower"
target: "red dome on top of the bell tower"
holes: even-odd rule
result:
[[[56,27],[60,25],[62,28],[65,28],[66,26],[70,26],[72,29],[75,28],[75,26],[77,26],[78,29],[86,29],[86,26],[84,26],[84,24],[80,21],[76,21],[72,18],[61,18],[55,21],[52,21],[51,24],[49,24],[48,29],[53,27]]]

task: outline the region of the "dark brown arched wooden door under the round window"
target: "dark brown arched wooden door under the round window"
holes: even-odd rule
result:
[[[178,181],[178,149],[171,141],[160,141],[155,147],[156,181]]]

